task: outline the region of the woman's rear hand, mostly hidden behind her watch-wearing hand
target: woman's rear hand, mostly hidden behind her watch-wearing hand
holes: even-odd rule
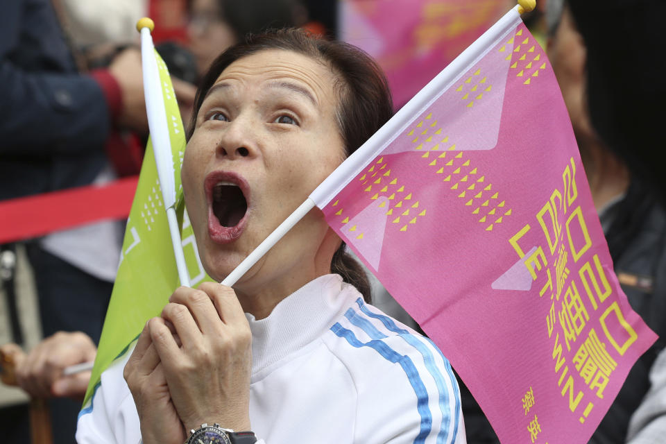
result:
[[[123,376],[137,406],[143,443],[182,444],[185,442],[185,428],[176,413],[176,407],[173,406],[167,379],[164,377],[164,366],[151,339],[151,325],[160,321],[162,319],[156,318],[146,323],[125,366]],[[164,325],[164,321],[160,325]],[[177,337],[173,339],[170,332],[169,337],[171,340],[178,340]]]

